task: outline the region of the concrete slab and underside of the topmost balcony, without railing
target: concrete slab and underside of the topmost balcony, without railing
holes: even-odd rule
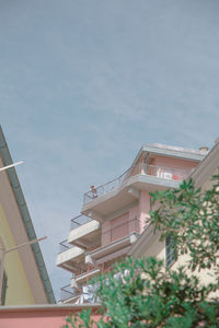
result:
[[[103,221],[104,216],[134,202],[140,190],[154,192],[166,188],[177,188],[178,185],[180,181],[177,180],[150,175],[136,175],[125,180],[117,189],[83,204],[82,212],[90,216],[94,213],[93,219]]]

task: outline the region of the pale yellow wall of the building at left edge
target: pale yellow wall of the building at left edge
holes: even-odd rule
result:
[[[0,204],[0,235],[5,248],[15,246],[12,233]],[[16,250],[5,255],[4,270],[8,276],[5,305],[34,304],[34,297]]]

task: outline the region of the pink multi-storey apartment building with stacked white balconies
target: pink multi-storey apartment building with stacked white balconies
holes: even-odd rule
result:
[[[70,284],[62,288],[60,302],[92,303],[88,280],[135,253],[131,249],[142,235],[147,235],[146,247],[153,242],[150,233],[146,233],[151,209],[149,192],[177,188],[206,154],[206,149],[143,145],[124,174],[102,186],[90,187],[83,196],[81,214],[71,220],[68,238],[60,243],[56,263],[72,272]]]

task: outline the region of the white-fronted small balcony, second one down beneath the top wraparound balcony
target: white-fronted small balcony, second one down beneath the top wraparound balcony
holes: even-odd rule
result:
[[[56,259],[56,265],[74,274],[80,274],[87,269],[85,265],[83,265],[83,258],[84,250],[70,245],[66,239],[59,244],[59,254]]]

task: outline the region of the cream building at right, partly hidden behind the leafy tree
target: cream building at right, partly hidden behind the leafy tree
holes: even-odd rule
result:
[[[211,179],[214,175],[219,174],[219,139],[216,140],[214,148],[206,152],[204,160],[193,169],[189,177],[193,178],[194,186],[201,188],[203,191],[210,189],[215,185]],[[189,260],[189,254],[181,255],[175,258],[175,248],[171,245],[171,239],[160,241],[160,234],[153,233],[153,227],[148,226],[140,235],[138,241],[130,247],[128,255],[134,257],[155,256],[165,261],[165,266],[177,269]],[[203,284],[216,282],[216,276],[212,270],[201,269],[194,272]],[[212,297],[219,297],[218,292],[212,293]]]

